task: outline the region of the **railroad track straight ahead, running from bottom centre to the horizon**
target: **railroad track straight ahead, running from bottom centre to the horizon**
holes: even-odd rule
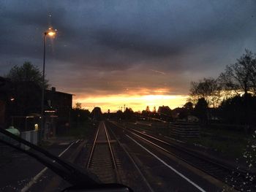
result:
[[[96,174],[102,183],[120,183],[111,142],[105,123],[100,122],[86,169]]]

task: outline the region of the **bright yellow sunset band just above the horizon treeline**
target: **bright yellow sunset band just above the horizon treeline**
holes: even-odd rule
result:
[[[82,103],[82,107],[87,110],[93,110],[94,107],[101,107],[102,112],[116,112],[117,110],[130,107],[134,111],[142,111],[149,106],[153,110],[154,106],[158,109],[159,106],[167,105],[171,109],[182,107],[188,96],[186,95],[110,95],[110,96],[74,96],[73,106],[75,103]]]

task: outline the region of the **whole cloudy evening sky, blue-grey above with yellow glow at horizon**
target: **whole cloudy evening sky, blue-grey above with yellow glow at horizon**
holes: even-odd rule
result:
[[[182,106],[189,83],[256,52],[256,1],[0,1],[0,75],[24,61],[74,103],[118,110]]]

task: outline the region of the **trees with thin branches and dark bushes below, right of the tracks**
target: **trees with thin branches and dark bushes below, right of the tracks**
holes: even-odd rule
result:
[[[227,65],[219,77],[191,82],[189,101],[200,106],[197,116],[206,119],[208,107],[222,122],[255,124],[256,55],[249,50],[235,64]],[[203,109],[204,108],[204,109]],[[204,113],[204,114],[203,114]],[[211,114],[210,114],[211,115]]]

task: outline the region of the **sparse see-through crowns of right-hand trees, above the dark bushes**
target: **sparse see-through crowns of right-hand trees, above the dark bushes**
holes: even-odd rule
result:
[[[189,101],[195,104],[204,98],[209,107],[218,107],[225,99],[247,93],[256,94],[256,55],[249,50],[245,50],[235,64],[227,65],[216,79],[191,82]]]

